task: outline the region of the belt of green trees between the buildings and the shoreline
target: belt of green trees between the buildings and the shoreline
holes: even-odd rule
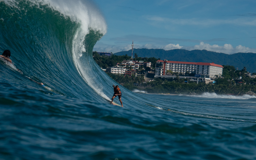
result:
[[[243,95],[248,91],[256,92],[256,79],[246,77],[246,68],[243,70],[236,70],[234,66],[223,66],[222,77],[217,77],[214,84],[205,84],[190,82],[188,79],[180,79],[177,74],[175,81],[167,81],[156,78],[155,81],[143,83],[143,77],[129,77],[124,75],[109,74],[119,84],[122,84],[127,89],[133,91],[134,89],[144,90],[148,93],[172,93],[172,94],[189,94],[203,92],[214,92],[217,94],[236,94]],[[255,74],[256,75],[256,74]],[[236,84],[234,78],[242,77],[242,84]],[[185,83],[188,81],[188,83]],[[246,83],[246,84],[245,84]],[[136,85],[133,85],[136,84]]]

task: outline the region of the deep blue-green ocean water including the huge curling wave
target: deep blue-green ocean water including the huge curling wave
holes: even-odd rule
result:
[[[254,96],[119,85],[124,108],[110,105],[117,83],[92,59],[107,25],[91,1],[0,0],[0,28],[13,61],[0,60],[0,160],[256,159]]]

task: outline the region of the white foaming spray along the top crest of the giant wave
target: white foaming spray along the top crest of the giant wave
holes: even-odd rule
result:
[[[1,0],[0,0],[1,1]],[[91,1],[80,0],[25,0],[36,6],[48,5],[52,10],[60,12],[65,17],[81,24],[81,28],[85,34],[89,30],[100,31],[101,34],[107,33],[107,24],[100,10]],[[19,8],[20,0],[4,0],[4,2],[12,7]]]

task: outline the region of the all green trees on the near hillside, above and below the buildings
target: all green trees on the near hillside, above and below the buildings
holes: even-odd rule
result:
[[[102,67],[107,68],[108,66],[116,66],[116,63],[121,63],[123,60],[130,60],[131,57],[127,55],[123,56],[100,56],[97,52],[93,53],[93,59],[96,63]],[[133,60],[143,60],[149,61],[151,63],[156,63],[158,59],[156,58],[141,58],[138,54],[134,55]],[[252,79],[246,76],[247,68],[244,67],[242,70],[236,70],[234,66],[223,65],[223,72],[221,77],[215,79],[214,84],[205,84],[195,82],[190,82],[188,79],[180,79],[179,76],[184,76],[177,72],[170,72],[172,75],[176,75],[174,81],[161,80],[156,78],[155,81],[145,83],[144,76],[132,77],[124,76],[123,74],[112,74],[107,73],[112,79],[117,83],[123,85],[129,90],[139,89],[144,90],[148,93],[176,93],[176,94],[189,94],[189,93],[203,93],[203,92],[215,92],[217,94],[236,94],[243,95],[245,92],[252,91],[256,92],[256,79]],[[143,68],[140,68],[143,69]],[[194,76],[194,74],[186,73],[186,76]],[[256,75],[256,73],[252,73]],[[240,80],[242,84],[236,84],[234,80],[242,77]],[[188,81],[188,83],[185,83]]]

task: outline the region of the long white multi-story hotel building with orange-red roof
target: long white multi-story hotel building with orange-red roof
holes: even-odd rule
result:
[[[171,70],[182,74],[200,74],[201,78],[215,78],[216,75],[222,75],[222,69],[221,65],[214,63],[157,60],[155,73],[156,76],[164,76],[167,70]]]

